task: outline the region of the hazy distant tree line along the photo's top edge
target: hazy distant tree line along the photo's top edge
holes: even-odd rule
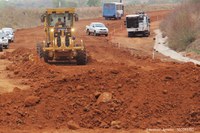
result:
[[[119,2],[120,0],[0,0],[0,8],[6,6],[16,7],[84,7],[84,6],[101,6],[105,2]],[[126,4],[159,4],[159,3],[176,3],[183,0],[125,0]],[[195,1],[195,0],[194,0]],[[197,0],[199,1],[199,0]]]

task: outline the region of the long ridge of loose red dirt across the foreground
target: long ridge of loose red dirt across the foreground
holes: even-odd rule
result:
[[[18,49],[8,56],[10,71],[31,88],[0,95],[2,128],[62,128],[70,121],[83,128],[200,127],[200,68],[194,64],[144,71],[111,63],[65,75],[27,59],[30,54]],[[109,99],[97,102],[105,92]]]

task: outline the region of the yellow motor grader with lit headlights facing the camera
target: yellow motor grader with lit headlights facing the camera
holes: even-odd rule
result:
[[[78,65],[87,63],[85,45],[74,36],[74,8],[47,9],[41,16],[46,39],[37,44],[37,53],[45,62],[76,60]]]

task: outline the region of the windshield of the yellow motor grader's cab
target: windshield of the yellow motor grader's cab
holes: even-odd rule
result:
[[[49,26],[55,26],[56,23],[58,22],[58,19],[61,19],[61,22],[65,24],[66,27],[72,27],[72,22],[73,22],[73,14],[70,13],[62,13],[62,14],[50,14],[48,16],[48,24]]]

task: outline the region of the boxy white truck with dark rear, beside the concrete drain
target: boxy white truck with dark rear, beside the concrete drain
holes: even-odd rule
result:
[[[128,37],[133,37],[137,34],[142,34],[146,37],[150,35],[150,18],[144,12],[126,15],[125,25]]]

